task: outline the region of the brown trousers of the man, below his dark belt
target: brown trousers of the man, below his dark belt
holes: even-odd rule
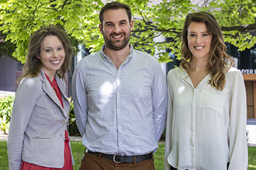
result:
[[[85,153],[81,170],[155,170],[154,159],[139,163],[115,163],[110,159]]]

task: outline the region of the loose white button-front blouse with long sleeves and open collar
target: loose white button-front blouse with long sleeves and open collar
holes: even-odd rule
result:
[[[207,75],[194,88],[178,67],[168,73],[164,169],[247,169],[247,104],[243,76],[231,68],[223,90]]]

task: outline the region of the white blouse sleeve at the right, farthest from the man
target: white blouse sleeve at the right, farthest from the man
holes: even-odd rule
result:
[[[230,96],[230,166],[229,170],[246,170],[248,163],[247,103],[243,76],[237,71]]]

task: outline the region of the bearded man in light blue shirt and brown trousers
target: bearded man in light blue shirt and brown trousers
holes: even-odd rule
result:
[[[81,59],[72,80],[74,114],[88,149],[81,169],[154,169],[166,121],[166,77],[157,59],[129,43],[128,5],[107,3],[99,19],[106,44]]]

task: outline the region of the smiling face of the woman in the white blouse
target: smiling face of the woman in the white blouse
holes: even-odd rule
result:
[[[188,29],[188,45],[193,59],[208,61],[213,36],[205,22],[191,22]]]

